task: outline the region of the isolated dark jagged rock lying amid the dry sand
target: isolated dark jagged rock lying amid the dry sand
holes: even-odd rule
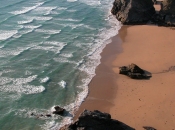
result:
[[[133,63],[128,66],[119,67],[119,74],[127,75],[132,79],[149,79],[152,77],[151,73],[144,71]]]

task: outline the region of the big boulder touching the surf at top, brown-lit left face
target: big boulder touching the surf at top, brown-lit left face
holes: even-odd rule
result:
[[[111,13],[123,24],[145,24],[155,8],[152,0],[115,0]]]

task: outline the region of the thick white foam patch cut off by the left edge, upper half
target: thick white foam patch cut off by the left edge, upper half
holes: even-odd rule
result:
[[[0,30],[0,41],[7,40],[8,38],[11,38],[16,33],[18,33],[17,30],[11,30],[11,31]]]

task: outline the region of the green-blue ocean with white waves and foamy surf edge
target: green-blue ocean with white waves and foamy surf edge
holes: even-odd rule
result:
[[[55,130],[88,94],[100,53],[121,25],[113,0],[0,2],[0,129]],[[51,114],[59,105],[64,116]]]

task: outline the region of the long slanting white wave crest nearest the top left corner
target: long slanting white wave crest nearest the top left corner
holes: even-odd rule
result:
[[[14,15],[25,14],[25,13],[31,11],[31,10],[36,9],[37,7],[41,6],[42,4],[44,4],[44,2],[37,3],[36,5],[34,5],[32,7],[23,7],[22,10],[17,10],[17,11],[11,12],[11,13],[14,14]]]

